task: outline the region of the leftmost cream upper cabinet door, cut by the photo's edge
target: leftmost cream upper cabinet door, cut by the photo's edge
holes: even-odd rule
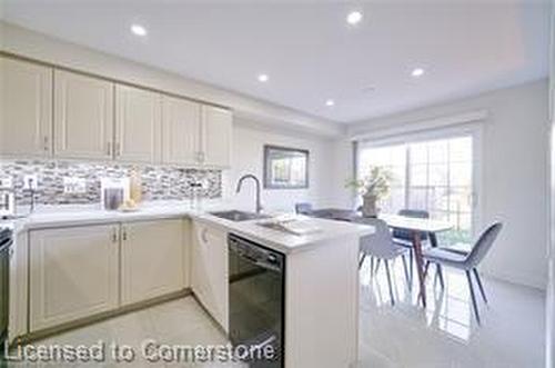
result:
[[[52,153],[52,69],[0,57],[0,153]]]

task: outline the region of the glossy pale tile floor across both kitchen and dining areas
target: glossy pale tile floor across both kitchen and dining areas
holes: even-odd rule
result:
[[[407,292],[401,262],[397,263],[394,307],[390,304],[384,268],[380,269],[372,281],[370,262],[365,262],[361,271],[361,345],[357,368],[544,367],[545,296],[542,292],[484,278],[490,307],[480,305],[482,327],[478,327],[472,315],[463,273],[447,271],[444,291],[441,291],[438,285],[434,287],[433,277],[430,277],[428,308],[423,310],[416,306],[416,292]],[[147,338],[164,344],[192,346],[226,344],[225,337],[192,297],[71,330],[37,344],[90,345],[101,339],[131,345],[139,350]],[[68,365],[74,366],[77,365]],[[114,367],[115,364],[112,361],[102,366]],[[123,366],[134,368],[172,365],[147,364],[139,359]]]

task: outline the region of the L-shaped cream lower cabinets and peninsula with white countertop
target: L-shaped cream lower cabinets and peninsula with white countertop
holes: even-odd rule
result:
[[[371,227],[311,219],[321,230],[296,236],[262,227],[260,219],[212,215],[225,209],[221,205],[189,208],[179,201],[127,213],[57,207],[13,221],[10,340],[188,294],[228,335],[233,233],[284,255],[285,367],[349,367],[356,360],[359,239]]]

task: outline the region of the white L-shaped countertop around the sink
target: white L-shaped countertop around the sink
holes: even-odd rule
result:
[[[312,249],[326,240],[346,236],[362,237],[374,232],[374,229],[369,226],[311,218],[310,221],[321,230],[297,236],[261,227],[258,222],[262,220],[238,222],[210,215],[211,211],[228,209],[231,209],[231,207],[222,201],[205,201],[202,209],[192,209],[189,201],[152,201],[142,203],[139,210],[134,212],[105,211],[98,206],[48,206],[41,207],[34,213],[21,219],[0,221],[0,225],[12,225],[14,231],[20,232],[70,226],[183,217],[221,227],[229,232],[245,237],[284,253]],[[280,213],[270,212],[268,215]]]

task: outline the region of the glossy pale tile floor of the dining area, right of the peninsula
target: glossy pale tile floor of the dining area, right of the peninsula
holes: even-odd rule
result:
[[[482,326],[471,308],[466,276],[445,272],[445,289],[427,278],[426,310],[408,294],[401,260],[395,267],[391,306],[385,268],[361,270],[360,367],[371,368],[543,368],[545,295],[482,277],[490,299],[478,298]],[[415,275],[416,276],[416,275]]]

